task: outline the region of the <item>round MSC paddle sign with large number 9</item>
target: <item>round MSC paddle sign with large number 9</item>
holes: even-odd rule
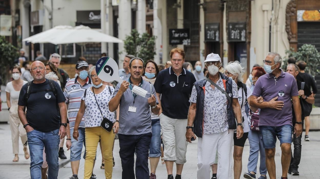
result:
[[[110,57],[102,57],[96,63],[96,72],[98,77],[105,82],[117,81],[123,82],[119,77],[119,68],[115,60]]]

